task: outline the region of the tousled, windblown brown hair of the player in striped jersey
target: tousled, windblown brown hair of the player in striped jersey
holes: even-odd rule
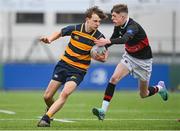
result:
[[[108,17],[101,9],[98,8],[98,6],[87,9],[85,12],[85,17],[91,18],[92,14],[97,14],[102,20]]]

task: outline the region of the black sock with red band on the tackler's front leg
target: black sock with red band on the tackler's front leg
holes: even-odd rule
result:
[[[110,102],[112,97],[113,97],[113,94],[114,94],[114,90],[115,90],[115,86],[114,84],[112,83],[109,83],[106,87],[106,91],[105,91],[105,94],[104,94],[104,100]]]

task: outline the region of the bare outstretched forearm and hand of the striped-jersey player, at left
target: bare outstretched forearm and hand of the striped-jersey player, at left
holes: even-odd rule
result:
[[[61,32],[54,32],[52,35],[50,35],[48,37],[47,36],[41,37],[40,41],[42,41],[46,44],[50,44],[51,42],[58,39],[59,37],[61,37]]]

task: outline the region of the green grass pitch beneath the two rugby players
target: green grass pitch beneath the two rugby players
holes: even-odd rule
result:
[[[50,128],[36,127],[43,115],[43,92],[0,92],[0,130],[180,130],[180,94],[170,93],[164,102],[159,95],[141,99],[138,92],[116,92],[106,119],[98,121],[93,107],[100,107],[104,92],[76,91],[54,117],[73,123],[53,121]],[[56,98],[57,98],[56,94]]]

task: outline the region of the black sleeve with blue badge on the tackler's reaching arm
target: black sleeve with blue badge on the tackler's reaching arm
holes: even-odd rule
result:
[[[136,35],[138,30],[139,29],[138,29],[137,25],[135,25],[135,24],[129,25],[127,27],[126,32],[124,33],[124,35],[121,38],[115,37],[115,35],[113,37],[111,37],[111,39],[110,39],[111,44],[125,44],[127,41],[131,40]]]

